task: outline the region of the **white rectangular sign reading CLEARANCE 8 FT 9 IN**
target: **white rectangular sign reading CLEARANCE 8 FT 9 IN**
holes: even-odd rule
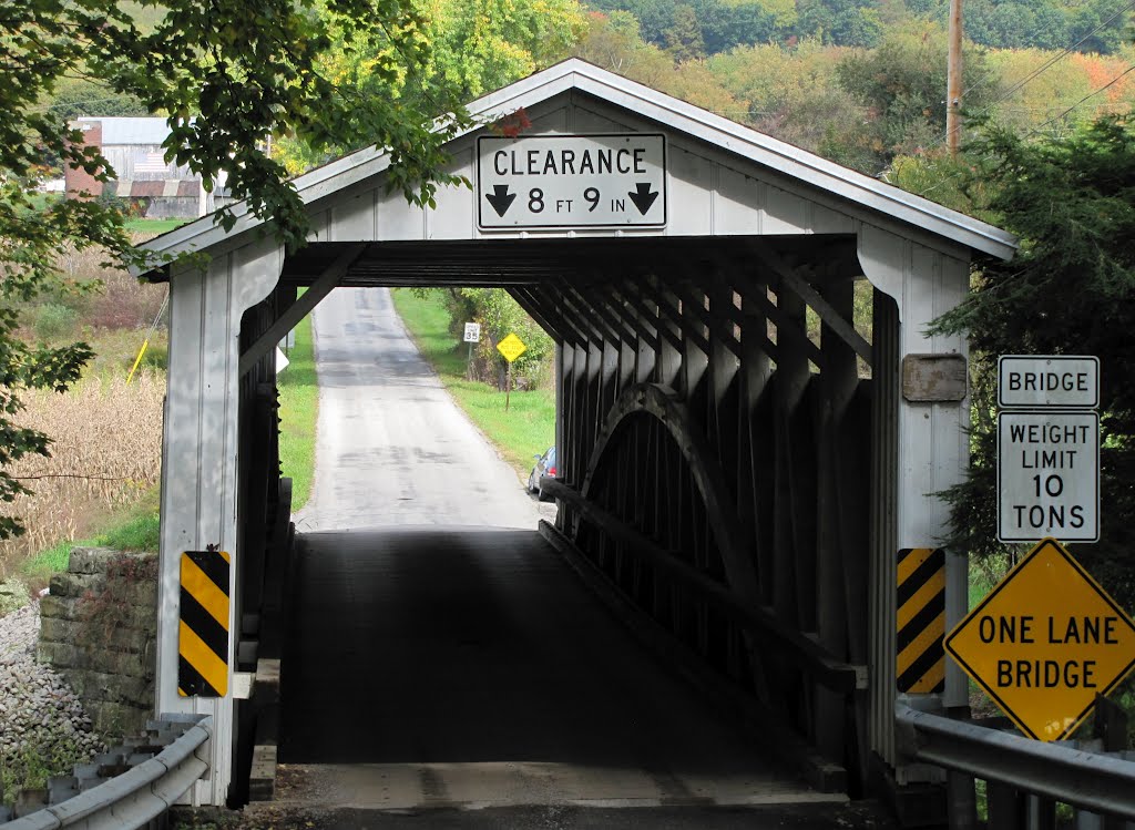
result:
[[[655,133],[477,140],[482,230],[662,227],[666,139]]]

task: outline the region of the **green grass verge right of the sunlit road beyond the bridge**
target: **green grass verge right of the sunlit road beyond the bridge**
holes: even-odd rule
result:
[[[505,394],[465,378],[465,346],[449,333],[449,315],[439,299],[395,290],[394,307],[419,351],[469,419],[519,473],[532,468],[532,455],[555,442],[556,399],[550,389],[513,392],[505,412]]]

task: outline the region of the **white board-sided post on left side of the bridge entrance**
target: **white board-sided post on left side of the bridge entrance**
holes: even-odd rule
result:
[[[177,689],[180,556],[218,545],[238,596],[237,424],[241,318],[279,279],[280,249],[260,241],[217,257],[208,269],[170,276],[169,368],[162,435],[161,553],[158,582],[157,713],[213,716],[209,774],[188,798],[224,805],[232,779],[233,697],[182,697]],[[232,602],[230,609],[237,607]],[[236,620],[229,619],[229,689]]]

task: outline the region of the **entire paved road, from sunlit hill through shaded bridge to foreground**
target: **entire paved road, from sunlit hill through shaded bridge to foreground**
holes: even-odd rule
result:
[[[278,800],[245,811],[247,827],[874,821],[801,786],[582,587],[385,292],[335,292],[317,345],[320,441],[283,663],[284,763]],[[770,812],[779,804],[802,806]]]

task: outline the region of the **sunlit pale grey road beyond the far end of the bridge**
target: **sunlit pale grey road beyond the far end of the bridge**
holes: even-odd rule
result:
[[[314,336],[316,480],[297,530],[536,527],[537,503],[418,353],[386,288],[336,288]]]

